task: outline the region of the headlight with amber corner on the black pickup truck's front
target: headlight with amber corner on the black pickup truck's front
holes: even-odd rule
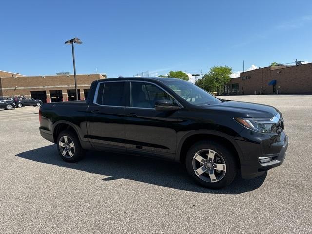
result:
[[[240,118],[235,117],[234,119],[245,126],[246,128],[252,129],[261,133],[277,133],[276,124],[278,123],[280,115],[277,114],[273,118]]]

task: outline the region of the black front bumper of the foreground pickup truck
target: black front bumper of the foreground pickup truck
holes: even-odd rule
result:
[[[242,178],[251,179],[260,176],[283,163],[288,147],[288,137],[283,131],[276,135],[245,129],[240,135],[242,138],[236,139],[236,142],[243,152]]]

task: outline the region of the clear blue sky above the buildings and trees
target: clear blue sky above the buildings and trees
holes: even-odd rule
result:
[[[149,70],[235,72],[271,62],[312,62],[312,1],[11,0],[0,3],[0,70],[132,76]]]

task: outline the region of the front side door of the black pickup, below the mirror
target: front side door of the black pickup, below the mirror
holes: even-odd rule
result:
[[[146,153],[173,159],[178,112],[156,111],[157,100],[172,100],[158,85],[147,81],[130,82],[130,103],[126,106],[125,131],[129,153]]]

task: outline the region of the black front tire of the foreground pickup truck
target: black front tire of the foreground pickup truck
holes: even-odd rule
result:
[[[199,162],[198,159],[195,159],[195,154],[198,152],[203,156],[200,159],[205,159],[202,163]],[[218,160],[220,163],[214,162],[214,160],[210,163],[206,152],[208,154],[209,152],[212,152],[212,155],[215,154],[214,160]],[[196,158],[198,157],[196,156]],[[217,163],[220,165],[225,164],[223,167],[224,170],[214,169]],[[231,152],[231,150],[229,150],[226,146],[212,140],[203,140],[195,143],[187,152],[185,165],[187,172],[197,184],[210,189],[220,189],[228,186],[232,183],[238,172],[237,161],[234,153]],[[199,168],[202,168],[204,172],[197,175],[198,172],[195,172],[195,169]],[[214,174],[216,179],[212,179],[211,174]],[[213,180],[215,182],[213,182]]]

